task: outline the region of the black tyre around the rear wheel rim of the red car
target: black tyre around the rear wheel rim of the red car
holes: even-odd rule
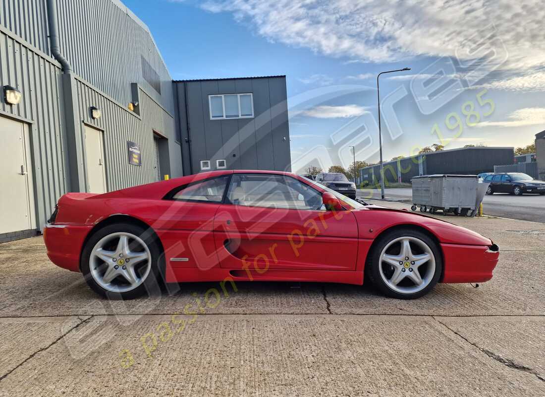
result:
[[[130,233],[140,237],[147,245],[152,258],[151,269],[146,279],[138,287],[126,292],[112,292],[102,288],[90,274],[89,269],[90,254],[93,251],[94,246],[105,236],[118,232]],[[164,255],[161,253],[160,245],[156,241],[156,236],[152,232],[152,229],[144,229],[130,223],[111,224],[96,230],[83,247],[80,262],[81,272],[89,287],[93,289],[94,292],[108,299],[134,299],[143,295],[149,296],[159,293],[162,284],[161,274],[164,274],[164,267]]]

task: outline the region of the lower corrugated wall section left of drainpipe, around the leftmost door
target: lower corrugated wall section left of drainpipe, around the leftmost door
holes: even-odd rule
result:
[[[34,52],[2,28],[0,87],[18,88],[22,99],[15,106],[0,101],[0,111],[29,122],[39,224],[44,223],[57,199],[66,192],[61,74],[56,61]]]

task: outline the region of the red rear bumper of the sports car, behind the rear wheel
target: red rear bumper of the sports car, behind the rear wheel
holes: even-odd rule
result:
[[[80,271],[83,241],[91,229],[91,226],[46,224],[44,242],[51,262],[64,269]]]

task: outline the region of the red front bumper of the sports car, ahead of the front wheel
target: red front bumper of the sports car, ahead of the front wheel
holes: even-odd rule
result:
[[[495,246],[495,245],[494,245]],[[444,254],[444,283],[485,282],[492,279],[492,273],[499,251],[488,246],[441,244]],[[495,246],[493,249],[496,249]]]

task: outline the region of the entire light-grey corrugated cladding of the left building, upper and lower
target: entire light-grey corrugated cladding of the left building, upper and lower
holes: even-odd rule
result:
[[[154,182],[153,131],[157,131],[168,138],[161,140],[165,169],[173,177],[180,176],[172,80],[147,28],[117,0],[58,0],[58,12],[62,51],[68,53],[77,73],[73,78],[79,113],[76,126],[80,127],[76,134],[81,134],[81,140],[76,150],[84,155],[84,123],[102,129],[108,190]],[[0,100],[0,116],[15,117],[30,126],[38,227],[70,188],[71,175],[71,129],[65,120],[69,112],[64,109],[63,91],[66,76],[48,55],[47,32],[45,0],[0,0],[0,86],[12,85],[22,92],[19,105]],[[161,76],[161,95],[142,78],[141,55]],[[138,98],[132,97],[134,82]],[[134,99],[140,103],[140,115],[127,108]],[[102,117],[90,117],[90,106],[99,108]],[[129,164],[128,140],[141,145],[142,167]],[[79,167],[84,170],[82,159]]]

